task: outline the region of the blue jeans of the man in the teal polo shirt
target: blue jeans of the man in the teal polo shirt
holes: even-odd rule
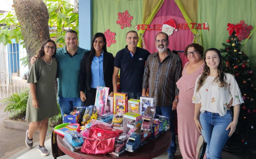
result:
[[[78,98],[64,98],[59,96],[59,104],[60,104],[60,111],[61,116],[63,119],[63,115],[70,114],[73,111],[75,106],[84,106],[84,102],[81,101],[80,97]]]

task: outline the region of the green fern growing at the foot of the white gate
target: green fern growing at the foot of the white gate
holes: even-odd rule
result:
[[[26,88],[2,100],[4,104],[7,104],[4,112],[10,112],[9,118],[23,118],[26,115],[28,95],[29,88]]]

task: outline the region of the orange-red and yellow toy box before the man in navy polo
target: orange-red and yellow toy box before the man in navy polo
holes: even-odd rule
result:
[[[127,113],[128,112],[128,94],[114,93],[114,108],[113,113]]]

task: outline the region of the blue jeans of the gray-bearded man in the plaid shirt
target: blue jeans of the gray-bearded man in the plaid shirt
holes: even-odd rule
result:
[[[167,153],[174,154],[177,150],[176,146],[176,135],[175,135],[175,127],[174,127],[174,111],[172,110],[172,105],[166,107],[156,107],[156,113],[158,115],[163,115],[170,117],[170,132],[172,134],[171,145],[168,147]]]

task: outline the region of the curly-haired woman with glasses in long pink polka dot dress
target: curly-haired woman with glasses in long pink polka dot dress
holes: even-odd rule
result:
[[[204,48],[199,44],[190,44],[185,49],[187,62],[182,71],[182,77],[176,83],[179,89],[179,102],[177,105],[178,114],[178,137],[180,152],[183,159],[196,159],[196,146],[200,136],[194,122],[195,104],[192,97],[195,82],[203,73],[204,59],[202,55]],[[204,156],[206,159],[206,155]]]

